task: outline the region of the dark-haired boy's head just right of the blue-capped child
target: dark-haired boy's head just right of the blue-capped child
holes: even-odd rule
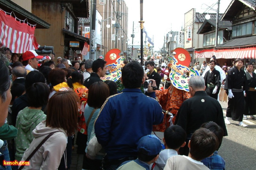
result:
[[[163,133],[163,137],[163,142],[166,144],[166,146],[169,149],[176,150],[185,146],[187,133],[179,125],[173,125],[166,128],[165,132]]]

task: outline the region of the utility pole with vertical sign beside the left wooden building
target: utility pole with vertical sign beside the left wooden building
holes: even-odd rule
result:
[[[96,3],[97,0],[91,0],[90,13],[90,59],[95,59],[95,24],[96,24]]]

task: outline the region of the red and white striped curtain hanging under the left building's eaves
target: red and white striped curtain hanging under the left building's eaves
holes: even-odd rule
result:
[[[20,22],[0,9],[0,47],[5,46],[13,53],[25,53],[28,50],[37,50],[34,36],[35,26]]]

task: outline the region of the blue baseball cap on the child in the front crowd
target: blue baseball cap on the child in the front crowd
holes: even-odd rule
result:
[[[162,143],[155,135],[147,135],[140,138],[137,150],[144,149],[146,155],[158,155],[162,150]]]

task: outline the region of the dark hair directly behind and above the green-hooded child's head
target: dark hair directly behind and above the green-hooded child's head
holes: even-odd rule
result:
[[[41,72],[38,71],[31,71],[29,74],[27,74],[26,79],[25,79],[25,88],[29,88],[32,86],[34,83],[37,82],[42,82],[45,83],[45,77]]]

